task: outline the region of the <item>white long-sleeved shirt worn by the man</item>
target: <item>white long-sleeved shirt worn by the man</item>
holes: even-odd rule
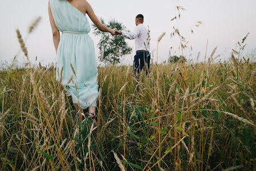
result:
[[[122,35],[129,39],[135,39],[135,51],[148,50],[150,51],[149,44],[149,30],[143,26],[143,24],[137,25],[133,32],[122,32]],[[146,46],[145,46],[145,44]]]

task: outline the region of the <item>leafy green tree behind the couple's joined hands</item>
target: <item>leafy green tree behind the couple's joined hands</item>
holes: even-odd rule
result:
[[[100,18],[102,24],[106,25],[108,28],[115,30],[126,30],[125,25],[121,22],[118,22],[115,19],[110,20],[107,24],[105,24],[104,20]],[[94,29],[94,34],[96,36],[100,36],[100,41],[97,44],[100,53],[99,59],[100,61],[104,61],[111,64],[120,63],[120,59],[124,55],[128,55],[133,50],[125,41],[125,37],[122,35],[111,36],[109,33],[101,32],[95,25],[92,25]]]

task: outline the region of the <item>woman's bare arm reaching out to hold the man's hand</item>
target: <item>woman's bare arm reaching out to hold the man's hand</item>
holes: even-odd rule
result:
[[[108,28],[106,25],[102,24],[102,22],[99,21],[98,17],[95,15],[94,10],[92,9],[90,3],[86,1],[86,13],[91,18],[91,21],[94,22],[96,27],[102,31],[102,32],[109,32],[112,35],[115,35],[115,30]]]

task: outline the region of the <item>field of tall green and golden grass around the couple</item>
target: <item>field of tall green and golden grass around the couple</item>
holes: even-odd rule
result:
[[[99,67],[97,126],[77,118],[55,66],[2,67],[0,170],[256,170],[245,39],[228,61],[213,63],[215,48],[202,63],[152,64],[138,82],[132,66]]]

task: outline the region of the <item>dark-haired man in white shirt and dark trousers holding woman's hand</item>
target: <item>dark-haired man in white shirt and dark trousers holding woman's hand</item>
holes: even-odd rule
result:
[[[135,40],[135,51],[133,61],[134,76],[139,79],[139,72],[142,69],[146,69],[146,75],[148,75],[150,69],[150,34],[149,30],[143,26],[144,17],[142,14],[138,14],[135,18],[135,25],[133,32],[121,32],[116,31],[118,34],[122,34],[130,40]],[[146,66],[145,66],[146,65]]]

